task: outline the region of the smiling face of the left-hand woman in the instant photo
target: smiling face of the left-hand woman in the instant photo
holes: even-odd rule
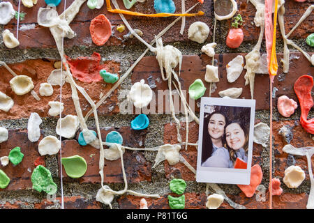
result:
[[[221,139],[225,128],[225,116],[222,114],[213,114],[209,119],[208,132],[211,139]]]

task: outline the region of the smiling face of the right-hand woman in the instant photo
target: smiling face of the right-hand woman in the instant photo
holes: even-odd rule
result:
[[[243,148],[246,142],[244,130],[238,123],[232,123],[225,128],[225,139],[228,146],[234,150]]]

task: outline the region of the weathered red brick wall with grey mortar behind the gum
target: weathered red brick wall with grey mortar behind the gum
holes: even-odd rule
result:
[[[10,0],[13,3],[15,10],[17,10],[16,1]],[[73,1],[67,1],[68,6]],[[181,2],[174,1],[177,6],[177,12],[181,10]],[[186,8],[190,8],[196,1],[186,1]],[[216,84],[217,89],[212,93],[212,97],[218,97],[218,92],[230,87],[242,87],[244,89],[241,97],[251,98],[249,86],[244,86],[244,75],[246,70],[241,73],[241,76],[232,84],[226,79],[226,64],[233,59],[237,54],[246,55],[251,51],[252,47],[257,42],[260,28],[253,25],[253,18],[255,15],[255,8],[251,3],[237,0],[239,13],[244,18],[244,43],[239,49],[227,49],[225,47],[226,29],[230,26],[230,21],[217,22],[216,32],[216,47],[217,54],[215,55],[220,82]],[[122,1],[119,1],[120,7],[123,7]],[[302,13],[313,4],[313,1],[307,0],[304,3],[297,3],[292,0],[287,0],[285,3],[285,31],[290,31],[292,26],[297,23]],[[145,3],[137,3],[132,10],[141,11],[145,13],[154,13],[154,2],[147,0]],[[56,46],[49,29],[38,26],[37,11],[38,8],[44,7],[44,1],[38,1],[38,4],[33,8],[25,8],[21,6],[21,11],[26,12],[25,20],[21,21],[20,27],[31,27],[20,31],[20,46],[15,49],[6,49],[0,40],[0,60],[6,61],[10,68],[12,68],[17,75],[28,75],[33,79],[34,91],[38,93],[40,83],[46,82],[50,72],[54,70],[54,62],[59,61],[59,56]],[[63,1],[57,7],[59,13],[63,10]],[[205,15],[202,17],[188,17],[186,18],[186,29],[184,35],[179,34],[181,22],[177,22],[170,31],[163,36],[164,45],[174,45],[183,52],[183,64],[181,68],[180,82],[182,89],[187,90],[188,86],[197,78],[204,82],[204,72],[206,65],[211,64],[211,58],[202,54],[200,48],[202,45],[192,43],[187,38],[188,26],[196,21],[202,21],[213,26],[213,5],[211,1],[204,1],[203,5],[195,8],[195,11],[203,10]],[[103,13],[114,26],[114,36],[103,47],[96,47],[91,42],[89,33],[89,24],[91,20]],[[135,29],[141,29],[144,33],[144,40],[151,41],[154,36],[158,34],[167,24],[174,20],[169,18],[142,18],[126,16],[130,25]],[[292,33],[290,38],[294,39],[301,47],[306,49],[309,54],[313,54],[313,47],[308,47],[304,38],[314,32],[313,28],[314,14],[312,13],[304,22]],[[16,20],[13,19],[5,26],[0,26],[0,31],[9,29],[13,33],[16,32]],[[32,25],[33,24],[33,25]],[[121,41],[128,29],[123,33],[119,33],[116,26],[122,24],[119,15],[108,13],[105,6],[100,10],[89,10],[87,4],[84,3],[80,13],[75,17],[75,20],[70,24],[73,31],[77,33],[76,38],[72,40],[65,39],[66,53],[68,56],[90,56],[93,52],[99,52],[103,58],[104,63],[110,72],[117,72],[123,75],[128,67],[134,63],[137,56],[144,51],[145,47],[135,38]],[[152,26],[151,24],[154,24]],[[211,29],[212,30],[212,29]],[[278,61],[283,56],[281,48],[282,38],[278,32]],[[211,43],[212,36],[209,35],[206,43]],[[291,49],[292,51],[294,49]],[[262,52],[265,49],[262,47]],[[308,176],[308,168],[305,157],[287,155],[282,151],[283,146],[287,144],[283,137],[278,134],[278,130],[283,125],[294,126],[294,137],[291,144],[296,147],[313,146],[312,135],[308,134],[299,123],[299,108],[290,118],[284,118],[278,114],[276,110],[277,99],[281,95],[287,95],[297,101],[297,97],[293,91],[293,84],[300,75],[313,75],[314,68],[308,63],[303,54],[299,52],[292,52],[294,56],[299,59],[290,59],[290,70],[287,74],[282,71],[281,64],[278,69],[278,76],[275,77],[274,86],[278,89],[274,101],[274,173],[273,176],[280,178],[281,187],[283,187],[283,194],[281,196],[274,196],[273,206],[278,209],[287,208],[306,208],[308,194],[310,190],[310,179]],[[9,81],[12,75],[3,67],[0,67],[0,91],[6,93],[13,98],[15,105],[9,112],[0,111],[0,126],[6,127],[9,130],[9,139],[0,144],[0,157],[8,155],[10,149],[15,146],[20,146],[22,153],[24,153],[24,160],[16,167],[13,164],[8,164],[7,167],[0,167],[10,177],[10,184],[6,189],[0,189],[0,208],[59,208],[59,202],[48,201],[44,192],[39,193],[31,189],[31,172],[35,168],[33,162],[40,156],[38,153],[38,142],[31,143],[27,139],[27,118],[31,112],[37,112],[43,119],[41,128],[41,138],[47,135],[56,135],[55,127],[57,125],[57,118],[48,116],[47,111],[50,108],[47,102],[52,100],[59,100],[60,86],[53,86],[54,93],[50,97],[40,97],[40,101],[36,101],[30,93],[27,95],[18,96],[13,93],[10,88]],[[154,54],[147,54],[142,61],[135,66],[135,69],[121,86],[115,90],[110,98],[107,98],[105,104],[98,108],[98,116],[100,116],[100,127],[102,138],[111,130],[116,130],[124,137],[124,146],[135,148],[147,148],[159,146],[161,144],[175,144],[177,143],[177,130],[173,119],[170,115],[149,115],[150,125],[147,130],[132,130],[130,128],[130,121],[135,115],[119,114],[119,105],[125,100],[125,92],[130,89],[130,86],[135,82],[144,79],[145,82],[154,82],[156,87],[153,89],[154,93],[158,90],[167,89],[167,82],[163,82],[160,77],[160,70],[158,62]],[[76,80],[76,83],[87,91],[92,100],[97,102],[101,95],[105,95],[112,87],[112,84],[103,84],[103,82],[96,82],[86,84]],[[204,82],[207,87],[205,95],[209,95],[209,84]],[[174,89],[174,86],[172,86]],[[255,123],[260,121],[269,124],[269,77],[268,75],[255,76],[255,100],[256,113]],[[83,114],[91,109],[87,100],[79,93],[80,104]],[[63,116],[66,114],[75,114],[75,107],[71,99],[70,85],[64,84],[62,87],[62,102],[64,103]],[[199,107],[195,101],[195,110],[197,116],[199,115]],[[184,116],[179,115],[181,121],[184,121]],[[313,112],[310,113],[309,118],[313,118]],[[87,121],[89,128],[95,130],[94,117],[91,116]],[[181,137],[185,140],[185,126],[186,123],[181,123]],[[189,123],[188,141],[195,143],[198,139],[198,125],[194,121]],[[57,136],[57,135],[56,135]],[[87,173],[82,178],[69,178],[63,169],[63,188],[65,193],[65,208],[108,208],[96,201],[96,193],[100,188],[100,175],[98,174],[99,167],[99,150],[91,146],[80,146],[77,142],[78,135],[74,139],[63,139],[62,141],[62,156],[81,155],[87,160]],[[269,148],[263,148],[259,144],[253,144],[253,162],[252,164],[260,164],[263,171],[262,185],[268,188],[269,179]],[[197,150],[195,146],[188,146],[188,150],[181,150],[181,155],[196,168]],[[156,152],[149,151],[126,151],[124,153],[124,166],[126,168],[126,178],[128,180],[130,190],[137,192],[145,192],[149,194],[160,194],[160,199],[147,199],[149,208],[169,209],[167,203],[167,195],[172,194],[169,189],[169,182],[172,178],[183,178],[186,180],[188,186],[185,192],[186,208],[206,208],[205,203],[207,196],[205,194],[204,183],[196,183],[194,174],[184,164],[170,165],[167,161],[161,162],[155,169],[152,168],[154,164]],[[313,160],[312,160],[313,162]],[[306,179],[297,189],[289,189],[283,183],[284,170],[291,164],[299,165],[306,173]],[[46,155],[45,166],[50,169],[54,182],[58,185],[57,201],[61,200],[60,191],[60,163],[59,155]],[[121,171],[120,160],[109,161],[105,160],[104,169],[104,183],[110,185],[113,190],[122,190],[124,188],[124,181]],[[245,197],[244,193],[239,190],[236,185],[220,185],[225,193],[232,201],[239,203],[246,208],[268,208],[268,190],[266,193],[266,201],[256,201],[255,196],[252,198]],[[210,191],[210,194],[214,191]],[[128,194],[116,196],[112,202],[114,208],[139,208],[141,197],[134,197]],[[220,208],[232,208],[227,201],[224,201]]]

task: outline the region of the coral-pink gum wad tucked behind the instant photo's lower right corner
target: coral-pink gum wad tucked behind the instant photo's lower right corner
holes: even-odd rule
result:
[[[263,173],[259,164],[251,168],[251,180],[249,185],[237,185],[246,197],[253,197],[256,187],[262,183]]]

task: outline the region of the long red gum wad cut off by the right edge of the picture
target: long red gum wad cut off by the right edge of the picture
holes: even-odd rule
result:
[[[314,134],[314,118],[307,120],[308,112],[313,107],[311,91],[313,88],[313,77],[303,75],[294,83],[294,92],[297,95],[301,108],[300,123],[302,127],[311,134]]]

